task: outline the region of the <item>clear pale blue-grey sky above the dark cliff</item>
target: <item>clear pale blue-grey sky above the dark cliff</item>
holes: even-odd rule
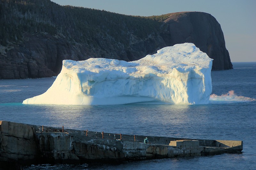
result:
[[[181,11],[211,14],[220,23],[231,62],[256,62],[256,0],[51,0],[125,15],[153,16]]]

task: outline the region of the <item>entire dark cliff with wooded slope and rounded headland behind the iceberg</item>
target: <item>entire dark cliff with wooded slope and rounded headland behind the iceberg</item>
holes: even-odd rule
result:
[[[204,12],[135,17],[50,0],[0,1],[0,79],[59,74],[62,60],[138,60],[160,48],[193,42],[232,69],[220,24]]]

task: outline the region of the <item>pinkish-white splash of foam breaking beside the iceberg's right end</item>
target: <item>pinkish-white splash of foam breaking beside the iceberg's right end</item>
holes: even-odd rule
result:
[[[222,94],[220,96],[216,94],[211,94],[210,101],[247,102],[247,101],[256,101],[256,99],[244,97],[244,96],[237,96],[233,90],[230,90],[227,94]]]

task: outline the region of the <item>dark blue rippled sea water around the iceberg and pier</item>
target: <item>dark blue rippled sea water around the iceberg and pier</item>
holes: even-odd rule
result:
[[[198,139],[243,140],[242,154],[128,161],[121,164],[32,165],[24,169],[256,169],[256,63],[212,71],[208,105],[23,105],[55,78],[0,80],[0,120]]]

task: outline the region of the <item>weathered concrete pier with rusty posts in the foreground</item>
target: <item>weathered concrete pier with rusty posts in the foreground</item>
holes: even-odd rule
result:
[[[242,153],[243,141],[113,134],[0,121],[2,168]],[[1,169],[1,168],[0,168]]]

